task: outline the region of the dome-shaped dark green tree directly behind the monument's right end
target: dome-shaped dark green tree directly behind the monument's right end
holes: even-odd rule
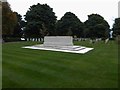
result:
[[[57,22],[57,35],[81,37],[82,32],[83,23],[78,19],[78,17],[75,14],[71,12],[66,12],[64,16]]]

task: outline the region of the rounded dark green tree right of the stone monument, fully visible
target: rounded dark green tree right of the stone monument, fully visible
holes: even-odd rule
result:
[[[99,14],[88,15],[88,20],[85,21],[87,28],[87,37],[90,38],[108,38],[109,24]]]

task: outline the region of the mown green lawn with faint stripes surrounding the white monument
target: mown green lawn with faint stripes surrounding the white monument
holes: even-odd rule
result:
[[[94,48],[83,55],[21,48],[36,43],[3,44],[3,88],[118,87],[118,47],[114,41],[74,42]]]

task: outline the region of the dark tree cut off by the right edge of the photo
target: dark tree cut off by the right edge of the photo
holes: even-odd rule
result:
[[[120,35],[120,18],[115,19],[112,30],[115,36]]]

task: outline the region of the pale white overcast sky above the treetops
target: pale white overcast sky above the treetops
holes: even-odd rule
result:
[[[120,0],[7,0],[13,11],[25,15],[33,4],[48,4],[59,20],[66,12],[72,12],[84,22],[87,15],[100,14],[112,27],[113,20],[118,17],[118,2]]]

